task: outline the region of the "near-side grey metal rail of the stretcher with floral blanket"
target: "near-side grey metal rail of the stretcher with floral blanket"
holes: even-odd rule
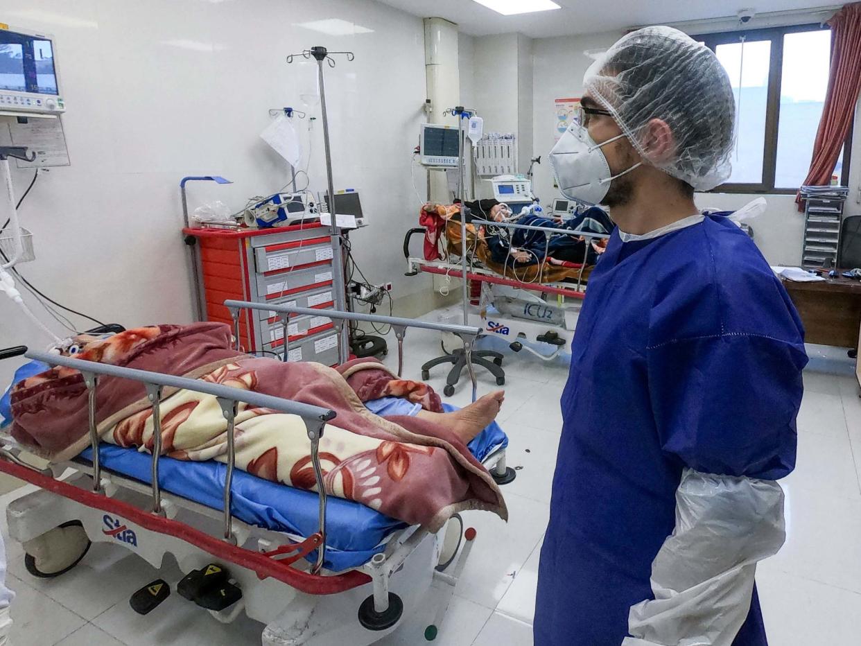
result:
[[[99,463],[99,433],[96,427],[96,388],[99,376],[111,376],[120,379],[131,379],[141,382],[146,388],[147,399],[152,405],[153,420],[153,448],[152,448],[152,512],[164,518],[164,510],[161,504],[161,492],[158,484],[158,458],[161,452],[161,418],[160,407],[164,388],[181,388],[192,390],[203,394],[213,395],[219,402],[221,412],[227,420],[227,469],[224,483],[224,539],[230,544],[235,544],[236,537],[232,532],[232,477],[235,468],[236,454],[234,444],[234,425],[238,413],[238,402],[243,401],[256,407],[271,408],[283,413],[300,416],[307,427],[307,436],[311,442],[311,462],[314,471],[314,481],[319,494],[319,535],[321,537],[317,562],[313,566],[313,574],[317,574],[323,567],[325,560],[325,511],[326,493],[323,482],[323,469],[319,460],[319,440],[323,437],[325,422],[334,419],[336,413],[327,408],[303,404],[299,401],[291,401],[262,394],[241,388],[231,388],[217,383],[204,382],[198,379],[164,375],[149,370],[136,370],[123,368],[121,366],[109,365],[107,363],[96,363],[84,361],[72,357],[62,357],[56,354],[48,354],[39,351],[27,351],[25,357],[41,361],[49,365],[64,366],[78,370],[84,377],[87,387],[87,411],[90,427],[90,445],[92,447],[93,465],[93,491],[102,493],[101,465]]]

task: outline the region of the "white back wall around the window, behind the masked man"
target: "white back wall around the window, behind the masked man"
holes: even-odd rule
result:
[[[610,47],[622,36],[621,32],[586,36],[538,39],[533,41],[535,81],[533,90],[535,110],[535,151],[542,155],[542,165],[536,166],[535,190],[545,204],[558,196],[553,188],[553,175],[546,155],[554,145],[554,109],[556,98],[580,96],[586,68],[592,63],[585,50]],[[861,120],[855,132],[861,132]],[[856,197],[861,196],[861,136],[856,136],[852,148],[851,182],[853,187],[846,213],[859,213]],[[740,194],[698,193],[700,208],[731,210],[746,204],[753,196]],[[794,196],[768,195],[768,209],[753,221],[754,239],[771,264],[799,264],[802,256],[804,216],[798,213]]]

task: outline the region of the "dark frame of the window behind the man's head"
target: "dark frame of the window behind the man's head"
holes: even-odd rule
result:
[[[712,52],[718,45],[728,45],[739,41],[740,36],[746,40],[770,40],[771,59],[768,70],[768,99],[765,108],[765,137],[763,138],[762,181],[759,183],[722,183],[711,189],[710,193],[769,193],[776,195],[795,195],[798,188],[778,188],[774,185],[777,172],[777,128],[780,123],[780,83],[784,63],[784,35],[799,32],[820,31],[829,29],[827,25],[818,22],[813,24],[790,25],[786,27],[770,27],[761,29],[736,29],[714,34],[696,34],[691,38],[702,41]],[[852,120],[854,122],[854,119]],[[811,154],[813,151],[811,151]],[[843,142],[843,168],[840,181],[844,186],[849,184],[849,165],[852,156],[852,127]]]

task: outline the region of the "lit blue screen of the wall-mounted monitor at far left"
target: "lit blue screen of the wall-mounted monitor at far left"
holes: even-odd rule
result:
[[[0,90],[58,94],[51,41],[0,29]]]

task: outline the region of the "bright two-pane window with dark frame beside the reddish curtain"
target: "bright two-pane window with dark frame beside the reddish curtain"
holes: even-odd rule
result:
[[[831,30],[802,25],[697,40],[726,69],[735,96],[733,174],[715,191],[794,193],[807,177],[825,102]],[[834,173],[848,182],[852,133]]]

